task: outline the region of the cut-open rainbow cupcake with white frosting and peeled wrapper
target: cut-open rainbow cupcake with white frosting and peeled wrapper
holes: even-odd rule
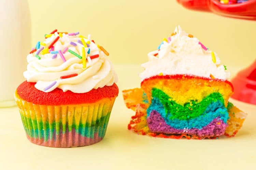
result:
[[[141,88],[124,90],[136,111],[128,129],[165,138],[234,136],[246,114],[229,103],[230,73],[217,54],[180,26],[148,54]]]

